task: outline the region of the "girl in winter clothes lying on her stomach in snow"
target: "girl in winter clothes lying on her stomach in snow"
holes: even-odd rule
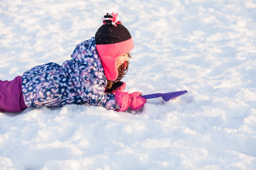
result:
[[[117,14],[106,14],[95,37],[76,46],[62,66],[46,63],[27,70],[14,80],[0,80],[0,111],[20,112],[30,107],[86,104],[106,109],[137,111],[146,103],[140,92],[122,92],[130,51],[129,31]]]

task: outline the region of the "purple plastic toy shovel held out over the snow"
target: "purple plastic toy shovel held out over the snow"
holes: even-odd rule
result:
[[[142,97],[144,97],[145,99],[153,99],[156,97],[162,97],[162,99],[164,101],[169,101],[171,99],[174,99],[177,96],[186,94],[188,91],[187,90],[183,90],[183,91],[174,91],[174,92],[170,92],[170,93],[166,93],[166,94],[150,94],[150,95],[143,95]]]

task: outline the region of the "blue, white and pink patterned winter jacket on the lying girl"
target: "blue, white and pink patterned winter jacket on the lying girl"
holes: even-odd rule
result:
[[[114,95],[104,93],[107,80],[95,38],[77,45],[71,57],[62,66],[50,62],[22,75],[22,92],[27,107],[89,104],[115,109]]]

